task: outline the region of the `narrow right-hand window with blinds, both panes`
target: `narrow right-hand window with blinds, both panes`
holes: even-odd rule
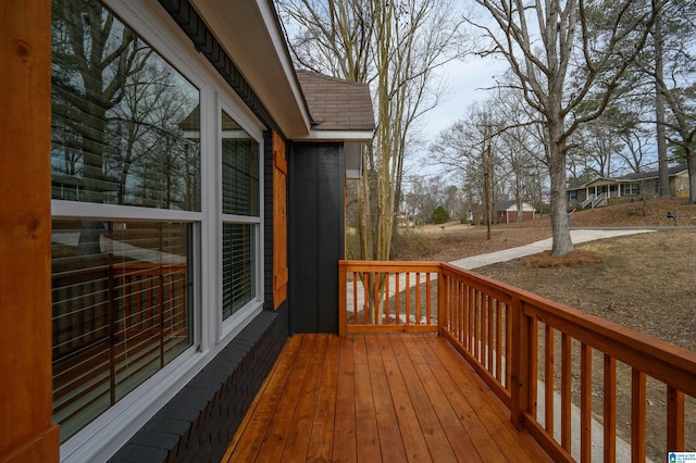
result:
[[[259,143],[222,111],[222,317],[257,298]]]

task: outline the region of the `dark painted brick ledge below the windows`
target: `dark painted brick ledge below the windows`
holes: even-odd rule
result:
[[[219,462],[287,339],[287,304],[260,313],[111,462]]]

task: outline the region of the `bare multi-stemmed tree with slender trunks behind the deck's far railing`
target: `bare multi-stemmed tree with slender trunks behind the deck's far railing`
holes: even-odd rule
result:
[[[449,1],[277,0],[298,65],[371,84],[377,128],[363,150],[361,258],[388,260],[403,159],[414,122],[443,91],[436,71],[461,55]]]

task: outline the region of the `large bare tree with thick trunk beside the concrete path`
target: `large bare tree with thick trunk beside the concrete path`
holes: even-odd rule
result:
[[[475,2],[486,9],[495,24],[476,24],[493,42],[486,53],[505,57],[526,103],[545,124],[551,182],[551,253],[563,255],[573,250],[566,218],[569,137],[581,124],[604,112],[619,79],[646,42],[654,9],[635,0]],[[600,90],[601,98],[588,98],[593,90]],[[582,116],[574,114],[580,105],[587,104],[592,108],[584,108]]]

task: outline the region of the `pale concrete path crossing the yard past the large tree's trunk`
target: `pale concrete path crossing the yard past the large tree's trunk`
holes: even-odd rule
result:
[[[636,235],[639,233],[655,232],[654,229],[644,228],[576,228],[570,232],[573,245],[594,241],[597,239],[614,238],[617,236]],[[474,255],[471,258],[459,259],[450,262],[460,268],[472,270],[486,265],[507,262],[513,259],[524,258],[526,255],[537,254],[551,249],[552,238],[543,239],[531,245],[520,246],[518,248],[506,249],[502,251],[490,252],[488,254]]]

